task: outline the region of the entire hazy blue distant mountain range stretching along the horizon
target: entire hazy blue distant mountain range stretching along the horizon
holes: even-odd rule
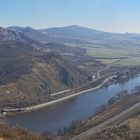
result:
[[[30,27],[8,27],[40,42],[94,43],[104,47],[140,46],[140,35],[132,33],[110,33],[77,25],[35,30]],[[112,45],[113,44],[113,45]]]

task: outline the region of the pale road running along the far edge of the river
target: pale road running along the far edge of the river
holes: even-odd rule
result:
[[[72,95],[69,95],[69,96],[54,100],[54,101],[50,101],[50,102],[47,102],[47,103],[42,103],[42,104],[31,106],[31,107],[25,107],[25,108],[3,109],[3,111],[4,112],[17,112],[17,111],[25,111],[25,112],[27,112],[27,111],[31,111],[31,110],[37,110],[37,109],[43,108],[45,106],[52,105],[54,103],[58,103],[58,102],[67,100],[69,98],[78,96],[80,94],[83,94],[83,93],[86,93],[86,92],[89,92],[89,91],[97,90],[97,89],[101,88],[106,82],[108,82],[113,77],[114,77],[114,75],[106,78],[100,85],[98,85],[98,86],[96,86],[94,88],[90,88],[90,89],[87,89],[87,90],[84,90],[84,91],[80,91],[80,92],[74,93]]]

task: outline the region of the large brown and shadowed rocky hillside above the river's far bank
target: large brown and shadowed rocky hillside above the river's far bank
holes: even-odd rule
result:
[[[2,30],[7,32],[6,29]],[[0,34],[3,35],[2,32]],[[69,64],[58,53],[41,53],[29,43],[11,39],[8,32],[2,35],[1,106],[23,107],[45,102],[49,100],[50,93],[80,86],[89,80],[89,74]],[[10,32],[10,35],[13,34]]]

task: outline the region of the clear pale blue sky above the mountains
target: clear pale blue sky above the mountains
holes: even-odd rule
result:
[[[140,0],[0,0],[0,26],[140,33]]]

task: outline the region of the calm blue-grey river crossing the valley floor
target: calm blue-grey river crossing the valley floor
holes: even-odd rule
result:
[[[123,90],[131,92],[138,85],[140,85],[140,76],[125,83],[113,84],[40,110],[11,117],[7,121],[12,126],[29,128],[39,133],[50,131],[56,134],[59,128],[69,126],[73,120],[86,119],[94,115],[101,105],[107,103],[118,92]]]

